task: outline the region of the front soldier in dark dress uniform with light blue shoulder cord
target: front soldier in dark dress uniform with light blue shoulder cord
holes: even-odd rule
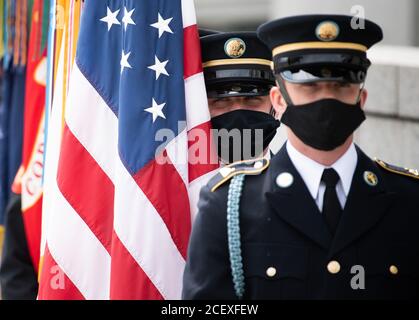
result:
[[[288,140],[271,161],[226,166],[201,190],[184,299],[419,297],[419,173],[353,143],[365,119],[366,51],[382,30],[351,20],[259,27]]]

